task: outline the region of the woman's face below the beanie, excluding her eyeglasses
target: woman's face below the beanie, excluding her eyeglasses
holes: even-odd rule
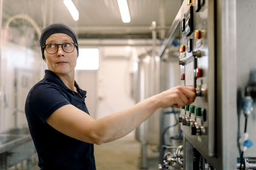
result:
[[[45,45],[49,43],[62,44],[62,43],[74,43],[73,39],[67,34],[56,33],[49,36],[46,39]],[[74,75],[74,69],[76,67],[77,49],[71,53],[64,52],[61,45],[58,46],[58,52],[50,54],[44,50],[45,62],[48,69],[56,74],[70,74]]]

